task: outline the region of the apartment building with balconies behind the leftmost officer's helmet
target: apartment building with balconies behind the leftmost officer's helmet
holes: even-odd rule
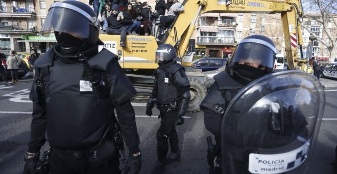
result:
[[[49,7],[56,2],[60,1],[0,0],[0,49],[30,52],[36,48],[44,53],[52,48],[56,44],[55,36],[43,37],[39,31]]]

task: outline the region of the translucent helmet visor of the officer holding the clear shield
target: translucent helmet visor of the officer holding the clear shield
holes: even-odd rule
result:
[[[275,53],[269,47],[254,42],[239,44],[230,62],[256,63],[268,68],[274,67]]]

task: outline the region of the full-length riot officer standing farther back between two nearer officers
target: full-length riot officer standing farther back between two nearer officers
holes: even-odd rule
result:
[[[176,50],[169,44],[163,44],[156,50],[159,67],[155,71],[153,91],[147,103],[146,114],[151,117],[152,108],[157,105],[161,118],[157,131],[157,156],[152,173],[162,173],[165,164],[180,161],[180,150],[176,125],[184,123],[183,116],[189,103],[189,81],[185,69],[176,61],[181,61]],[[171,153],[166,157],[170,143]]]

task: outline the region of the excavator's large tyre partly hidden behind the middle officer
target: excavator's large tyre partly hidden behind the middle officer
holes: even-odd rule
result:
[[[189,105],[188,105],[188,112],[198,112],[200,111],[200,103],[206,96],[206,88],[204,84],[202,84],[199,80],[196,78],[190,77],[188,78],[188,81],[190,83],[189,92],[191,94],[189,99]]]

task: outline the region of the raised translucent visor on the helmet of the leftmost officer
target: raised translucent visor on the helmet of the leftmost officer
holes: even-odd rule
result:
[[[48,37],[53,31],[68,33],[80,38],[89,37],[88,18],[68,8],[54,7],[49,10],[40,34]]]

